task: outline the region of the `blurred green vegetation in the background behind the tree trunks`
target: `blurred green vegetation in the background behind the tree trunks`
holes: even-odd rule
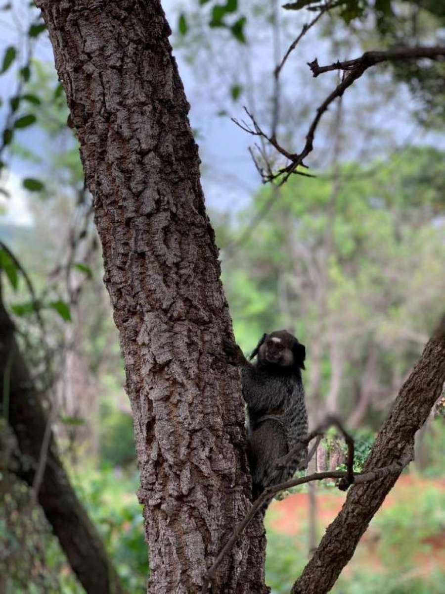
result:
[[[389,1],[340,4],[339,10],[348,11],[326,24],[326,39],[338,31],[344,34],[344,21],[356,18],[360,27],[354,39],[364,49],[400,40],[430,42],[443,24],[440,2],[406,1],[403,10],[398,5],[396,11],[395,2]],[[233,10],[218,15],[214,2],[200,2],[192,14],[180,14],[179,33],[190,62],[195,55],[214,68],[208,54],[197,52],[190,42],[200,43],[206,36],[202,23],[212,23],[225,36],[224,45],[235,44],[237,50],[252,22],[252,29],[261,23],[259,31],[273,24],[264,3],[243,5],[243,11],[250,10],[246,8],[247,21],[237,2],[230,6]],[[230,105],[250,92],[240,82],[239,61],[232,62],[235,72],[228,71],[226,81]],[[132,418],[101,278],[91,197],[84,188],[77,141],[66,127],[68,110],[52,64],[31,60],[23,68],[20,90],[26,93],[17,97],[11,91],[11,122],[26,116],[30,125],[39,127],[39,136],[30,146],[20,132],[11,132],[8,151],[33,175],[38,170],[38,179],[27,173],[22,184],[29,191],[26,204],[33,225],[21,228],[0,220],[0,232],[28,271],[40,304],[62,303],[65,315],[42,307],[42,337],[20,274],[17,290],[7,287],[6,301],[15,311],[33,379],[42,393],[48,386],[56,391],[59,447],[74,486],[126,589],[144,592],[148,559],[136,498]],[[408,83],[421,99],[412,109],[422,124],[443,124],[443,62],[406,62],[391,68],[396,80]],[[292,109],[294,114],[294,97]],[[227,111],[220,109],[220,115]],[[287,135],[294,133],[298,117],[290,119],[288,129],[282,124]],[[366,119],[363,114],[361,119]],[[347,132],[353,142],[356,131]],[[306,343],[309,407],[322,409],[329,403],[351,422],[357,438],[356,469],[363,467],[376,429],[443,313],[444,157],[437,147],[411,146],[372,162],[343,161],[315,179],[295,176],[281,189],[262,188],[236,217],[228,210],[211,213],[237,341],[249,352],[264,331],[287,327]],[[8,166],[2,160],[1,168]],[[0,206],[0,214],[6,210]],[[45,353],[51,356],[50,369]],[[332,590],[335,594],[445,593],[445,571],[430,565],[439,553],[444,559],[445,546],[443,405],[434,414],[418,444],[419,472],[431,482],[406,484],[403,493],[396,491],[392,504],[373,520],[371,541],[359,546]],[[4,435],[4,426],[0,429]],[[325,448],[329,454],[344,450],[344,445],[330,434]],[[418,485],[423,485],[420,491]],[[323,488],[318,493],[333,491]],[[306,488],[295,492],[305,494]],[[82,588],[42,511],[30,500],[29,490],[1,465],[0,495],[0,590],[80,594]],[[273,514],[268,514],[266,581],[272,592],[281,594],[289,592],[306,564],[308,530],[304,523],[298,536],[278,533]]]

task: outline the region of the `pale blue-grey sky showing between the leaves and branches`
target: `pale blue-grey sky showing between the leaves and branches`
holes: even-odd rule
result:
[[[174,54],[191,105],[190,122],[200,148],[202,184],[206,203],[211,209],[236,213],[240,207],[249,203],[250,197],[260,188],[261,181],[248,150],[252,140],[255,139],[237,127],[231,121],[231,116],[237,119],[244,118],[243,105],[247,105],[250,110],[255,109],[255,112],[260,114],[261,121],[265,122],[264,125],[267,127],[270,113],[268,97],[274,84],[272,72],[276,63],[274,39],[269,29],[265,27],[261,29],[258,27],[258,22],[252,20],[251,26],[248,26],[246,31],[249,45],[241,45],[224,30],[207,29],[206,34],[215,36],[214,42],[211,46],[207,44],[209,47],[203,44],[204,49],[197,52],[196,45],[190,44],[187,36],[183,38],[177,33],[177,20],[180,12],[196,10],[198,3],[193,0],[182,3],[164,0],[162,4],[171,28],[176,31],[171,40],[176,48]],[[30,15],[24,8],[23,1],[14,0],[14,6],[13,21],[8,21],[7,13],[0,19],[0,39],[2,40],[0,52],[17,39],[16,26],[25,30],[27,28],[23,23],[29,20]],[[292,13],[290,19],[287,15],[281,17],[282,13],[279,14],[283,24],[279,43],[275,44],[275,48],[277,45],[280,46],[277,55],[282,56],[290,41],[299,33],[302,24],[307,21],[308,15],[307,12],[305,14],[300,11]],[[319,77],[314,80],[306,63],[314,57],[319,59],[320,64],[332,62],[330,52],[332,52],[330,44],[317,37],[316,27],[314,27],[303,38],[282,71],[283,103],[287,109],[287,111],[283,110],[283,117],[287,118],[294,127],[291,135],[293,135],[295,151],[301,150],[304,145],[304,135],[313,118],[314,108],[337,82],[335,73],[329,73],[325,78]],[[360,55],[358,52],[357,48],[351,48],[351,55]],[[333,57],[345,59],[350,58],[351,55]],[[36,57],[42,61],[53,61],[52,48],[46,33],[39,37]],[[11,87],[15,84],[15,77],[14,69],[0,77],[0,96],[4,100],[7,99]],[[243,93],[237,102],[231,100],[228,92],[233,84],[243,87]],[[380,108],[370,111],[370,97],[367,96],[366,85],[365,81],[358,81],[344,97],[346,138],[343,152],[345,159],[355,157],[356,154],[360,155],[360,150],[363,152],[364,149],[360,143],[365,146],[366,153],[360,157],[361,159],[366,161],[375,157],[379,151],[382,151],[381,138],[385,138],[386,143],[386,137],[389,135],[394,147],[407,141],[434,142],[445,146],[443,135],[435,137],[434,134],[425,136],[419,133],[409,110],[406,109],[410,100],[412,102],[406,89],[400,87],[395,97],[389,100],[383,98],[380,100]],[[376,100],[378,100],[377,97]],[[221,111],[225,112],[224,116],[218,115]],[[264,118],[261,118],[262,113],[265,113]],[[5,108],[0,110],[0,125],[2,118],[4,120],[4,114]],[[358,127],[364,124],[371,129],[373,127],[378,131],[381,129],[381,134],[368,134],[368,140],[364,143],[357,134]],[[349,137],[348,129],[351,131]],[[323,134],[322,129],[316,137],[315,150],[311,157],[314,166],[317,168],[321,166],[322,169],[329,165],[329,151],[332,147],[332,142],[326,134]],[[364,135],[363,138],[365,138]],[[34,151],[40,152],[43,157],[49,150],[49,147],[43,143],[42,132],[35,126],[20,132],[18,140]],[[311,160],[309,161],[311,163]],[[7,209],[7,217],[2,216],[4,222],[20,225],[31,223],[31,215],[26,207],[28,197],[21,190],[20,178],[25,175],[38,175],[38,173],[38,166],[30,166],[30,163],[23,162],[17,157],[12,160],[7,182],[7,189],[11,191],[12,198],[7,200],[0,196],[0,208]]]

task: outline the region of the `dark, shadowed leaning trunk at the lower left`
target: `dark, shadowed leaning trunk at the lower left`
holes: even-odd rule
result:
[[[7,388],[4,388],[7,366],[10,367],[9,381]],[[17,437],[21,454],[17,474],[32,486],[40,462],[47,416],[15,341],[14,324],[5,311],[0,286],[0,394],[4,393],[4,389],[7,389],[9,399],[8,422]],[[38,501],[85,592],[121,594],[123,589],[116,571],[110,564],[96,528],[69,482],[55,451],[53,437],[47,452]]]

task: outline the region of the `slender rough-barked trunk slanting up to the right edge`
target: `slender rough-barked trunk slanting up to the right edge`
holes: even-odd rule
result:
[[[445,317],[427,343],[418,364],[400,389],[363,472],[389,466],[414,453],[414,435],[427,420],[445,381]],[[325,594],[354,554],[361,536],[398,474],[352,485],[345,504],[295,582],[293,594]]]

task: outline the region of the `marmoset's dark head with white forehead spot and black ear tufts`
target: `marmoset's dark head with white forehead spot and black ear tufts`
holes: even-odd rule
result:
[[[250,359],[255,355],[258,355],[259,365],[305,369],[306,348],[287,330],[263,334]]]

